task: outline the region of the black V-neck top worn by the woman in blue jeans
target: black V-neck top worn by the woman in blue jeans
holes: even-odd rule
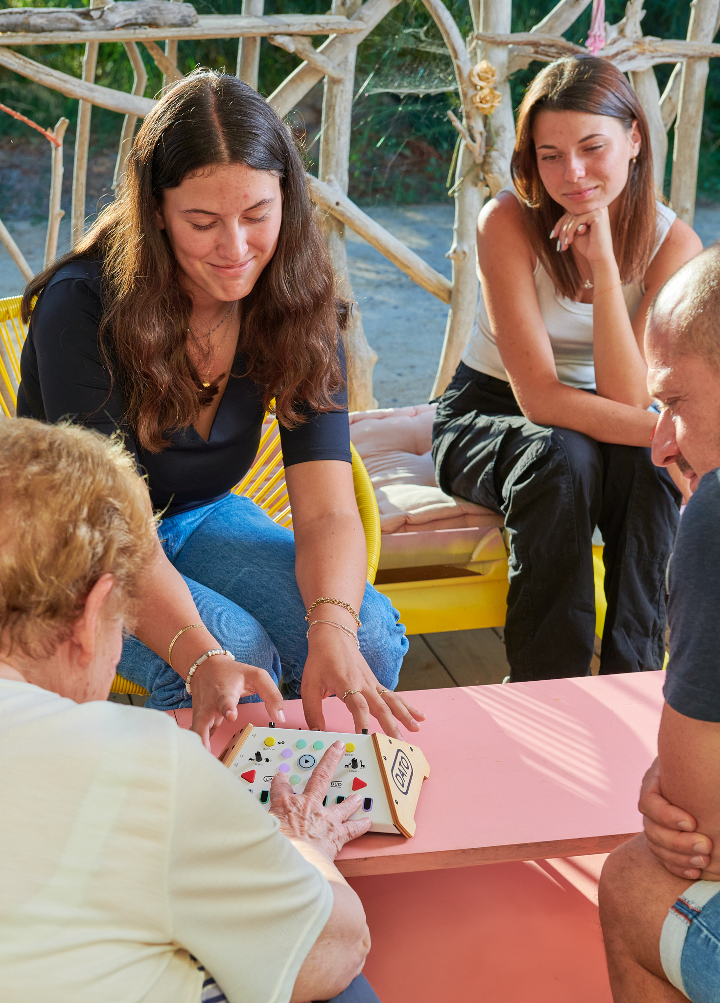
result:
[[[105,435],[119,429],[147,473],[153,508],[168,517],[225,497],[250,469],[262,433],[263,391],[245,375],[247,357],[242,352],[235,357],[207,442],[190,425],[168,434],[162,452],[146,452],[127,425],[122,389],[100,358],[100,270],[99,261],[70,262],[40,294],[20,357],[18,417],[51,422],[69,417]],[[338,354],[345,375],[341,338]],[[303,424],[293,430],[281,425],[286,466],[316,459],[352,462],[347,391],[335,399],[337,411],[305,409]]]

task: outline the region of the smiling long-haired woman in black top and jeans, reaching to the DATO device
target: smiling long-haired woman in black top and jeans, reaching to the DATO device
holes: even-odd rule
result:
[[[392,693],[404,628],[365,581],[349,307],[292,135],[262,97],[210,71],[171,87],[115,202],[28,284],[26,317],[33,296],[18,415],[119,429],[163,514],[118,672],[151,707],[192,705],[206,743],[240,700],[279,708],[281,678],[310,727],[337,694],[358,730],[369,713],[390,734],[394,718],[416,729],[422,715]],[[294,534],[231,493],[273,398]]]

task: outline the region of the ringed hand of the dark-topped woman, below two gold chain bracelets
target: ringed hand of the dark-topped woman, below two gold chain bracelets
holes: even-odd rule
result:
[[[345,706],[353,715],[358,734],[363,728],[370,728],[371,714],[384,734],[392,738],[402,740],[395,718],[409,731],[419,731],[420,725],[417,722],[425,720],[423,712],[416,710],[392,690],[381,694],[383,687],[352,640],[342,636],[333,637],[331,630],[333,634],[336,633],[333,628],[318,625],[310,635],[310,650],[300,687],[308,727],[325,731],[325,697],[335,694],[342,700],[348,690],[357,690],[357,693],[346,697]]]

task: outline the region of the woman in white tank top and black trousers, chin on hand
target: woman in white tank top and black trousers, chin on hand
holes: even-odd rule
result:
[[[513,682],[590,672],[596,527],[601,672],[660,669],[680,492],[650,455],[643,334],[700,240],[658,201],[643,109],[604,59],[535,77],[512,178],[478,220],[477,322],[437,407],[438,482],[504,516]]]

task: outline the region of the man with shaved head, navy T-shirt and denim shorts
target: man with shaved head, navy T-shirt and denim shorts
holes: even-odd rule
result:
[[[659,466],[693,491],[668,570],[671,654],[646,832],[600,890],[613,998],[720,1001],[720,246],[661,288],[645,333]],[[684,830],[684,831],[683,831]],[[703,833],[703,834],[700,834]]]

